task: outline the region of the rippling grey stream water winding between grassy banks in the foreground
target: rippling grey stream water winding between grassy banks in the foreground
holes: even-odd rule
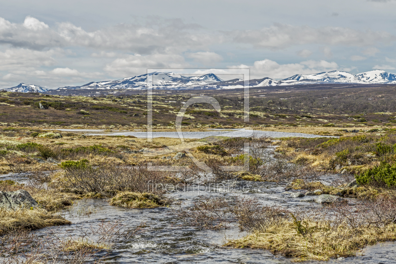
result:
[[[224,133],[215,131],[214,133]],[[124,132],[117,132],[124,133]],[[145,132],[126,132],[145,133]],[[157,132],[169,133],[173,132]],[[190,132],[198,133],[198,132]],[[206,133],[210,132],[199,132]],[[236,133],[245,133],[236,131]],[[265,132],[267,133],[267,132]],[[274,132],[281,133],[281,132]],[[147,135],[147,133],[145,133]],[[216,134],[218,135],[218,134]],[[235,135],[240,136],[241,134]],[[295,135],[295,134],[294,134]],[[273,135],[272,135],[273,136]],[[312,135],[316,136],[316,135]],[[276,136],[279,137],[279,134]],[[321,180],[331,182],[339,175],[324,175]],[[0,175],[0,180],[11,179],[25,182],[25,175]],[[240,190],[235,188],[234,180],[224,180],[222,187],[212,186],[207,188],[203,185],[192,185],[188,190],[176,190],[168,195],[181,201],[181,206],[187,206],[194,201],[198,195],[221,196],[232,198],[236,195],[257,198],[263,205],[277,204],[287,209],[295,207],[305,207],[310,203],[301,201],[304,198],[289,198],[289,194],[284,194],[285,188],[275,182],[249,182],[244,181],[247,188]],[[226,230],[201,230],[183,224],[175,217],[174,208],[159,207],[155,209],[128,209],[124,207],[111,206],[107,201],[101,199],[83,199],[78,201],[73,208],[64,210],[64,217],[72,222],[70,226],[52,226],[36,230],[38,236],[46,236],[48,232],[58,234],[78,234],[77,228],[83,226],[97,227],[102,221],[121,221],[125,224],[138,225],[146,222],[148,230],[131,239],[118,241],[112,245],[112,249],[104,250],[100,254],[109,253],[105,263],[130,264],[130,263],[257,263],[257,264],[287,264],[293,259],[284,256],[274,256],[269,251],[258,249],[229,249],[221,245],[228,238],[238,238],[245,236],[246,232],[240,232],[237,225],[231,225]],[[320,206],[320,205],[318,205]],[[76,213],[78,208],[86,207],[93,209],[93,213],[82,216]],[[359,256],[345,259],[331,259],[327,262],[316,260],[306,260],[302,263],[346,263],[346,264],[390,264],[395,263],[396,247],[395,242],[379,243],[366,247]]]

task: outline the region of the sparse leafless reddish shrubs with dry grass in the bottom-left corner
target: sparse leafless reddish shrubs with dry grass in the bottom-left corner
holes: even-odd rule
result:
[[[29,230],[17,229],[0,237],[0,256],[5,264],[82,264],[102,262],[108,254],[98,255],[111,243],[145,232],[145,223],[126,226],[120,222],[101,222],[97,228],[80,227],[75,236],[48,233],[37,237]]]

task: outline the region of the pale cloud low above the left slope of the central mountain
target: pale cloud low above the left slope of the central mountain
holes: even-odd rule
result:
[[[146,56],[135,54],[115,59],[107,64],[104,70],[114,77],[126,77],[144,74],[150,68],[171,69],[186,68],[188,66],[184,57],[177,54],[152,54]]]

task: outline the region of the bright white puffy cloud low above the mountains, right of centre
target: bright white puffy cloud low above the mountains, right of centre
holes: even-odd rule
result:
[[[300,63],[278,64],[275,61],[265,59],[255,61],[253,66],[238,65],[229,66],[229,68],[249,68],[251,79],[261,79],[269,77],[275,80],[281,80],[295,74],[312,74],[330,70],[337,70],[339,66],[335,62],[328,61],[302,61]]]

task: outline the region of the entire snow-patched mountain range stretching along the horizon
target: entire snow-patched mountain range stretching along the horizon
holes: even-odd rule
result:
[[[244,87],[244,80],[233,79],[224,81],[213,73],[202,76],[188,77],[173,72],[151,72],[115,81],[89,82],[82,86],[65,86],[51,92],[82,91],[82,90],[145,90],[147,78],[152,80],[153,89],[185,90],[185,89],[236,89]],[[396,74],[384,70],[371,70],[356,75],[349,72],[333,70],[317,74],[296,74],[283,80],[271,78],[249,80],[250,87],[321,84],[321,83],[353,83],[353,84],[396,84]],[[6,89],[12,92],[47,92],[37,85],[19,84]]]

